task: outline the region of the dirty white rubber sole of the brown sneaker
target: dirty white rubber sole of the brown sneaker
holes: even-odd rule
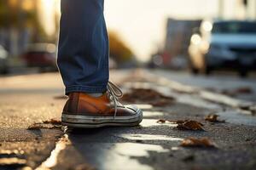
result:
[[[137,126],[143,121],[143,111],[137,110],[133,116],[79,116],[62,113],[62,125],[67,127],[95,128],[95,127],[129,127]]]

